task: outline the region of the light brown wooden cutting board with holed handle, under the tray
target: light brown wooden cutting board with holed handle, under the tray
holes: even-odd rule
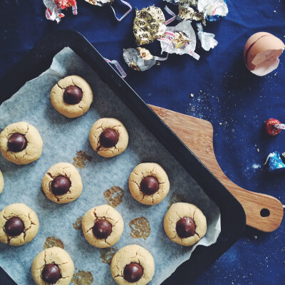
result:
[[[192,150],[227,190],[239,200],[247,216],[247,225],[262,232],[273,232],[279,227],[284,209],[278,199],[245,190],[234,184],[222,172],[214,155],[213,127],[211,123],[207,120],[190,117],[154,105],[150,105],[150,108]]]

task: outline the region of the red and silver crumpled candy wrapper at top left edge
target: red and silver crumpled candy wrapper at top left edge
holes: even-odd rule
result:
[[[57,23],[64,17],[61,9],[72,7],[73,15],[78,14],[76,0],[43,0],[43,4],[46,6],[46,19]]]

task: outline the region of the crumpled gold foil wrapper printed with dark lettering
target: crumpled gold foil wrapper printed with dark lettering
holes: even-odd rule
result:
[[[133,33],[138,46],[165,36],[165,15],[154,5],[135,10]]]

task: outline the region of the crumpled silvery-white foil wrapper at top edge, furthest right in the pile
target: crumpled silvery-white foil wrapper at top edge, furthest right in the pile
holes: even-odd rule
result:
[[[208,21],[217,21],[229,13],[224,0],[198,0],[197,9],[204,12],[204,18]]]

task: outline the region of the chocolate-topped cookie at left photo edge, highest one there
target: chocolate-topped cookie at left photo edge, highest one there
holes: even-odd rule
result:
[[[37,160],[43,150],[43,140],[38,130],[26,122],[8,125],[0,134],[2,155],[16,165],[26,165]]]

